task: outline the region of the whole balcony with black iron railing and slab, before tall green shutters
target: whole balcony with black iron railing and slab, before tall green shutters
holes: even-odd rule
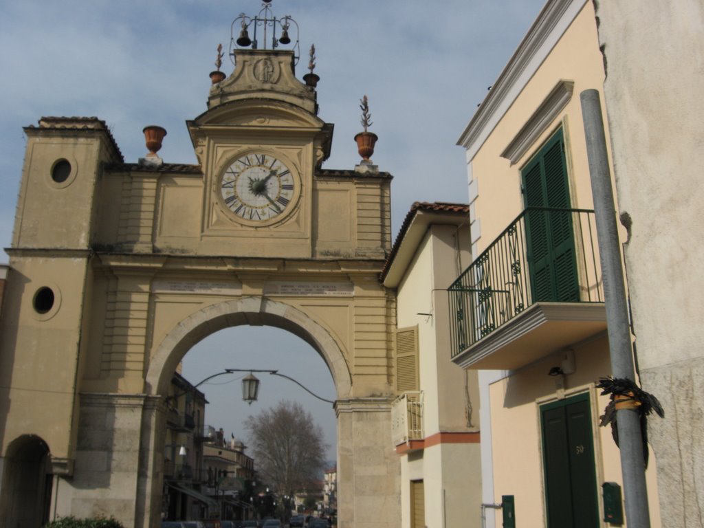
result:
[[[515,370],[605,330],[593,211],[527,208],[448,293],[465,368]]]

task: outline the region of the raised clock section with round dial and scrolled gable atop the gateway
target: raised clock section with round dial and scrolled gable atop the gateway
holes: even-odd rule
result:
[[[294,51],[235,49],[233,57],[234,73],[210,88],[208,111],[188,122],[206,183],[201,251],[313,258],[314,232],[328,229],[316,209],[325,209],[325,193],[320,203],[315,187],[333,127],[316,115],[315,88],[296,79]]]

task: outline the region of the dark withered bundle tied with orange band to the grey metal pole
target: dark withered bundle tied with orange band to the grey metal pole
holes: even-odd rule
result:
[[[648,467],[648,415],[655,411],[661,418],[665,417],[665,411],[662,410],[660,401],[627,378],[603,377],[599,379],[596,388],[602,389],[602,396],[605,394],[610,394],[611,396],[611,401],[606,406],[604,414],[599,417],[599,425],[601,427],[611,425],[611,435],[617,446],[619,441],[616,411],[622,409],[636,410],[640,415],[643,464]]]

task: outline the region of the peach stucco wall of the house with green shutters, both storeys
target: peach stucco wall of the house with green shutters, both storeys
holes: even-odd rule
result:
[[[567,4],[576,5],[577,2],[548,2],[551,7]],[[543,23],[546,22],[543,20]],[[559,25],[556,24],[556,27]],[[535,27],[539,31],[543,26],[538,21]],[[535,34],[530,36],[533,38]],[[530,39],[524,41],[524,44],[537,46]],[[586,89],[597,89],[602,95],[602,109],[605,111],[602,89],[605,80],[604,63],[599,49],[594,3],[582,2],[579,13],[545,56],[537,48],[534,52],[535,55],[528,64],[536,69],[526,84],[520,87],[520,92],[515,94],[515,99],[506,96],[508,103],[503,103],[508,108],[497,118],[496,127],[489,132],[481,146],[465,145],[468,148],[467,161],[470,163],[470,200],[474,200],[472,226],[479,227],[478,230],[472,230],[472,237],[477,242],[473,247],[475,258],[524,209],[520,170],[560,126],[565,136],[572,207],[593,208],[579,94]],[[520,61],[522,58],[513,60]],[[558,82],[573,83],[572,96],[564,108],[550,122],[543,123],[542,132],[515,163],[502,158],[502,153],[520,134],[543,101],[547,101],[548,94]],[[615,84],[615,90],[617,89]],[[503,93],[510,93],[510,89]],[[490,98],[491,94],[487,99]],[[606,136],[609,137],[608,130]],[[625,229],[621,229],[620,236],[623,241],[627,240]],[[485,491],[484,501],[500,503],[502,495],[514,495],[516,517],[521,526],[544,527],[546,522],[539,422],[541,403],[570,396],[575,391],[588,391],[591,394],[597,484],[622,483],[620,456],[611,439],[610,429],[598,427],[598,415],[603,413],[608,398],[598,396],[593,388],[599,377],[610,374],[608,342],[603,334],[597,334],[574,343],[572,348],[575,350],[577,370],[573,375],[565,377],[564,388],[555,383],[555,378],[548,376],[548,370],[559,365],[560,358],[547,356],[516,372],[494,372],[494,382],[487,391],[489,402],[483,402],[484,408],[489,406],[490,411],[490,419],[486,423],[491,423],[491,441],[484,446],[486,458],[483,463],[489,465],[490,474],[494,478],[493,497],[487,496]],[[482,440],[488,439],[488,436],[484,435]],[[656,499],[658,483],[654,467],[655,457],[651,450],[647,475],[650,513],[652,525],[659,526],[660,513]],[[601,488],[598,492],[601,495]],[[599,503],[601,508],[601,496]],[[501,513],[497,512],[494,518],[496,527],[501,526]]]

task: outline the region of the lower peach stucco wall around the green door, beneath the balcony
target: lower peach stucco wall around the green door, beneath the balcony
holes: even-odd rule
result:
[[[551,367],[560,363],[557,355],[548,356],[491,384],[491,439],[494,452],[494,496],[501,502],[502,495],[515,496],[516,518],[521,526],[545,526],[545,499],[543,497],[543,459],[539,406],[561,398],[589,394],[594,438],[596,482],[600,511],[601,484],[617,482],[623,486],[621,462],[610,427],[598,427],[609,398],[600,396],[594,382],[610,372],[608,339],[602,336],[574,348],[576,370],[561,377],[548,376]],[[655,455],[650,451],[649,470],[646,472],[648,492],[658,493],[655,473]],[[656,501],[650,503],[651,526],[660,526]],[[497,515],[496,527],[501,526]],[[603,523],[606,526],[605,523]]]

